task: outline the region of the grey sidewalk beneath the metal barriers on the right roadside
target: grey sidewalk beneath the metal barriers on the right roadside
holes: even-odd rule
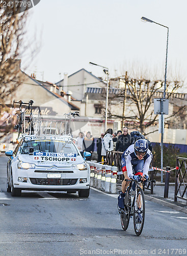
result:
[[[121,184],[117,184],[117,188],[121,190]],[[144,191],[145,200],[159,203],[164,206],[170,207],[173,210],[182,211],[187,214],[186,201],[178,198],[177,198],[177,202],[174,201],[175,184],[170,183],[168,198],[164,198],[164,188],[165,188],[165,183],[156,182],[156,185],[153,189],[153,194],[150,194],[150,191],[145,189]]]

